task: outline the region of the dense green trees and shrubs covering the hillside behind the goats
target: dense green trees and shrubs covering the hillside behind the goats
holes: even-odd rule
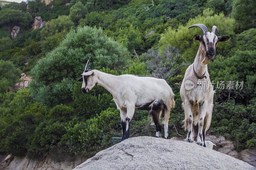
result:
[[[202,30],[188,30],[196,23],[209,30],[215,25],[218,36],[231,37],[218,45],[208,64],[216,93],[207,133],[228,137],[238,151],[255,146],[255,4],[255,0],[53,0],[45,5],[32,0],[3,6],[0,152],[90,156],[111,146],[112,137],[121,137],[120,113],[111,94],[100,86],[81,92],[77,79],[90,56],[92,69],[165,78],[176,102],[168,138],[177,132],[185,137],[180,85],[199,47],[193,36]],[[47,23],[34,30],[36,16]],[[20,26],[14,39],[13,26]],[[8,92],[21,71],[33,81],[28,88]],[[148,112],[135,111],[130,132],[130,137],[155,136]]]

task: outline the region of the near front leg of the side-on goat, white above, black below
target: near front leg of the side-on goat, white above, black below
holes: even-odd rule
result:
[[[123,129],[124,132],[123,132],[123,137],[121,141],[128,139],[130,136],[130,123],[132,121],[134,111],[135,111],[135,105],[127,105],[127,114],[125,117],[125,121],[122,124],[122,129],[123,129],[123,126],[125,126],[125,129]]]

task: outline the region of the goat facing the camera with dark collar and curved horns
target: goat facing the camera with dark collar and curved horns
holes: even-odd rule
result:
[[[205,147],[205,132],[209,129],[212,120],[213,89],[207,70],[207,64],[215,56],[218,42],[226,42],[228,36],[218,37],[215,35],[216,26],[210,33],[204,24],[189,26],[199,27],[204,31],[203,35],[194,35],[194,40],[200,42],[200,46],[193,64],[186,70],[180,88],[180,97],[183,101],[185,120],[184,128],[188,130],[187,142],[193,143],[193,123],[198,123],[197,144]],[[201,76],[202,75],[202,76]],[[204,132],[203,132],[204,131]],[[203,134],[203,138],[202,138]]]

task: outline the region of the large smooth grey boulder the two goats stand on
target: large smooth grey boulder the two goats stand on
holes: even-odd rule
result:
[[[88,169],[256,169],[255,167],[197,144],[156,137],[133,137],[77,166]]]

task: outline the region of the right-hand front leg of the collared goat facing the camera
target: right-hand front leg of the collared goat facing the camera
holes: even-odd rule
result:
[[[198,116],[198,135],[197,135],[197,142],[196,144],[200,146],[204,146],[204,136],[205,131],[203,134],[203,127],[204,127],[204,117],[207,111],[207,102],[202,102],[199,104],[199,116]]]

